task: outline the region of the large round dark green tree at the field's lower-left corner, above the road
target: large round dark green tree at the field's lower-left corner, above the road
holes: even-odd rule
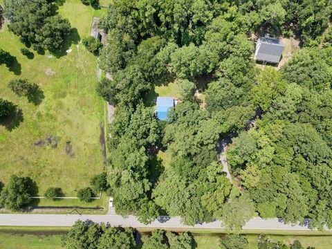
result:
[[[21,211],[28,208],[35,194],[35,183],[29,177],[12,175],[10,181],[3,188],[0,203],[8,210]]]

